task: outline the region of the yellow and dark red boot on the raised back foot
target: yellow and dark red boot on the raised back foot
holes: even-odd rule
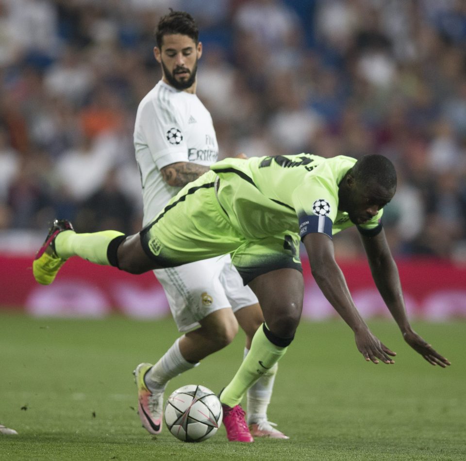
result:
[[[55,252],[55,238],[66,230],[74,231],[73,226],[66,219],[56,219],[50,227],[49,234],[33,261],[33,274],[37,283],[50,285],[65,263],[66,259],[60,258]]]

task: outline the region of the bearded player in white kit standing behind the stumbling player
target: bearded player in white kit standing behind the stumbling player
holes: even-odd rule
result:
[[[218,157],[211,115],[196,95],[197,63],[202,54],[198,33],[190,15],[174,11],[161,18],[155,32],[154,56],[161,64],[162,80],[139,104],[134,128],[144,226]],[[229,255],[153,272],[164,287],[179,331],[185,332],[155,365],[142,363],[134,370],[142,424],[151,434],[159,434],[167,382],[229,344],[238,323],[246,333],[246,356],[263,316]],[[266,415],[276,372],[274,366],[248,392],[250,431],[225,424],[230,441],[250,442],[250,434],[288,438]],[[237,420],[244,421],[244,415]]]

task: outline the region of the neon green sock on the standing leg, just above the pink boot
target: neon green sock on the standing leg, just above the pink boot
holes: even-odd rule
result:
[[[254,382],[274,366],[288,348],[272,344],[264,334],[262,326],[254,334],[251,349],[243,360],[233,380],[222,391],[220,401],[229,407],[238,405]]]

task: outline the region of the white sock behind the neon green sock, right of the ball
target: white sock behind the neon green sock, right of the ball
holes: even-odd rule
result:
[[[244,358],[248,355],[249,349],[244,349]],[[272,366],[258,381],[248,390],[247,420],[248,424],[257,423],[267,419],[267,407],[272,397],[273,383],[277,374],[278,363]]]

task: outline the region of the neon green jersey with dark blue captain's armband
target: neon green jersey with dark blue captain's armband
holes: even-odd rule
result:
[[[218,200],[232,225],[248,239],[285,231],[332,235],[354,225],[338,210],[338,184],[356,159],[312,154],[224,159],[211,166],[220,177]],[[224,180],[222,180],[222,178]],[[381,226],[383,209],[359,225],[360,232]]]

